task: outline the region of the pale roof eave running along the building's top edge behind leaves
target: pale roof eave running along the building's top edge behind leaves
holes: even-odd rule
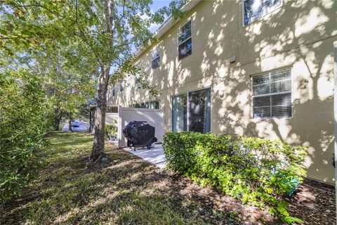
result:
[[[200,3],[201,0],[191,0],[189,2],[187,2],[187,4],[185,4],[185,6],[181,7],[181,11],[190,11],[192,8],[194,8],[194,6],[197,6],[197,4]],[[165,20],[164,23],[162,23],[160,25],[160,27],[157,29],[156,32],[154,32],[154,36],[157,36],[157,38],[161,38],[163,37],[164,34],[166,34],[166,32],[168,32],[173,25],[176,25],[176,23],[178,23],[178,20],[173,20],[172,16],[170,16],[169,18],[167,18]],[[153,43],[148,44],[146,47],[142,48],[142,49],[138,49],[138,51],[136,51],[136,53],[134,54],[135,58],[138,58],[142,53],[144,53],[147,49],[149,49],[152,46]]]

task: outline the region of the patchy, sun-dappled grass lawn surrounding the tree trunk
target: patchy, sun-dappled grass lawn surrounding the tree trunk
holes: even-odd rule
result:
[[[0,224],[239,224],[181,193],[180,178],[107,144],[107,165],[88,162],[93,137],[55,132],[48,166],[1,212]]]

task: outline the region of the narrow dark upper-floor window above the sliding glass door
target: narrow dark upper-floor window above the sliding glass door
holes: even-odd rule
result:
[[[191,20],[181,27],[178,44],[179,60],[192,54]]]

